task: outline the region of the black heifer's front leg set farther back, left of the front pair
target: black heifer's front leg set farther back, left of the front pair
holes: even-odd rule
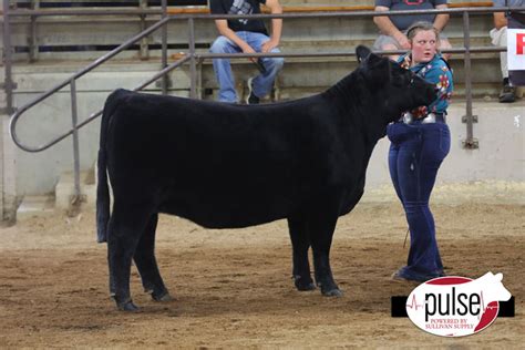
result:
[[[306,220],[288,218],[288,228],[292,245],[292,277],[296,288],[298,290],[316,289],[310,275],[310,262],[308,261],[310,239],[308,238]]]

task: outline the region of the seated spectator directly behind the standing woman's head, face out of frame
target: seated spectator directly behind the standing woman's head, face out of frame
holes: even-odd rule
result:
[[[401,10],[432,10],[446,9],[446,0],[375,0],[375,11],[401,11]],[[449,22],[449,14],[406,14],[406,16],[380,16],[374,17],[373,21],[380,30],[380,35],[373,43],[374,50],[409,50],[410,41],[406,38],[406,29],[418,21],[433,23],[440,32],[440,48],[450,49],[451,44],[441,31]],[[447,59],[450,55],[444,54]],[[399,55],[391,55],[392,60],[398,60]]]

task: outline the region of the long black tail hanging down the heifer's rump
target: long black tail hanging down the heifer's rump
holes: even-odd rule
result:
[[[124,90],[114,91],[105,101],[101,121],[101,136],[97,161],[96,186],[96,241],[107,241],[107,225],[110,223],[110,187],[107,184],[106,138],[110,119],[119,104],[119,95]]]

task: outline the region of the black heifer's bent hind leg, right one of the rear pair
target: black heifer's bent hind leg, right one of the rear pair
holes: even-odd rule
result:
[[[146,229],[138,240],[133,259],[135,260],[136,268],[141,274],[144,290],[152,295],[153,300],[169,301],[172,300],[172,297],[164,286],[155,259],[155,230],[157,222],[158,214],[152,215],[146,225]]]

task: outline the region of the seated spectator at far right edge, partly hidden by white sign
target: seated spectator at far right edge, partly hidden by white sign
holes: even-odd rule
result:
[[[493,0],[495,8],[502,7],[525,7],[525,0]],[[507,45],[507,25],[515,19],[506,16],[505,12],[494,12],[494,29],[491,30],[492,44],[496,47]],[[512,24],[512,23],[511,23]],[[516,23],[517,24],[517,23]],[[517,25],[513,25],[517,28]],[[516,87],[508,81],[507,53],[500,53],[502,68],[503,87],[500,93],[500,102],[508,103],[516,100]]]

